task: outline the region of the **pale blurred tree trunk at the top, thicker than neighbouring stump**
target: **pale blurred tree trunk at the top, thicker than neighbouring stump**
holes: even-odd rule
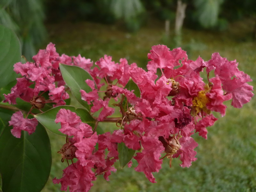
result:
[[[185,11],[187,4],[182,3],[181,0],[177,1],[176,19],[175,19],[175,35],[181,34],[181,28],[185,19]]]

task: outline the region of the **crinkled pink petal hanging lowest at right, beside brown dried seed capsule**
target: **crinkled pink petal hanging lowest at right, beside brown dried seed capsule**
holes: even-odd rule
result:
[[[180,160],[182,161],[182,164],[180,164],[181,167],[190,167],[192,161],[196,161],[196,151],[194,151],[194,148],[198,146],[196,141],[192,137],[181,137],[180,140],[181,148],[178,150],[176,154],[174,154],[172,157],[177,158],[180,156]]]

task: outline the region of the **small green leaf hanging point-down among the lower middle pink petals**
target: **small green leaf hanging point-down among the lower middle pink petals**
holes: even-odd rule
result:
[[[119,153],[118,154],[119,163],[120,163],[121,169],[123,169],[124,166],[132,160],[135,150],[129,149],[128,147],[125,146],[123,142],[118,143],[117,150]]]

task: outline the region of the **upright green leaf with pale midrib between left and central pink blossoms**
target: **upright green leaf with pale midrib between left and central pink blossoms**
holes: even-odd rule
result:
[[[92,91],[87,83],[85,83],[86,79],[93,80],[92,76],[87,71],[77,66],[60,64],[60,71],[65,83],[70,88],[76,100],[78,100],[85,108],[90,110],[88,103],[81,99],[80,90],[82,89],[87,93]]]

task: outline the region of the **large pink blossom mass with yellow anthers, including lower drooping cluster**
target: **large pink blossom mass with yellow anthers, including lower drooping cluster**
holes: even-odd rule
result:
[[[207,139],[206,127],[217,120],[211,112],[224,116],[227,108],[224,101],[232,99],[232,105],[241,108],[253,96],[252,86],[247,84],[252,81],[250,77],[238,70],[236,61],[228,61],[219,53],[213,53],[209,61],[200,57],[193,61],[181,48],[170,51],[165,45],[156,45],[148,53],[148,59],[148,71],[136,64],[128,65],[125,59],[115,63],[107,55],[95,63],[98,67],[85,68],[94,79],[85,81],[92,91],[80,92],[82,99],[92,104],[91,114],[103,108],[95,119],[109,122],[112,118],[108,116],[115,111],[108,106],[109,100],[121,100],[115,106],[120,107],[122,117],[117,124],[122,128],[112,134],[97,135],[74,113],[61,109],[56,122],[61,122],[62,133],[74,136],[72,145],[77,148],[78,159],[75,166],[71,164],[64,170],[61,179],[54,179],[55,183],[61,182],[62,190],[69,186],[70,191],[88,191],[91,181],[102,173],[108,179],[110,171],[115,171],[112,165],[118,159],[116,143],[121,142],[137,150],[133,157],[138,162],[135,170],[144,172],[153,183],[156,181],[152,172],[161,169],[164,157],[170,158],[170,166],[172,158],[180,157],[180,166],[189,167],[196,160],[194,149],[198,145],[191,135],[198,132]],[[156,74],[158,68],[160,76]],[[208,76],[206,83],[200,76],[204,68]],[[130,78],[138,85],[140,97],[136,97],[133,90],[124,88]],[[106,81],[107,88],[101,79]],[[106,95],[103,99],[100,89]],[[124,96],[128,101],[126,108],[122,105]]]

